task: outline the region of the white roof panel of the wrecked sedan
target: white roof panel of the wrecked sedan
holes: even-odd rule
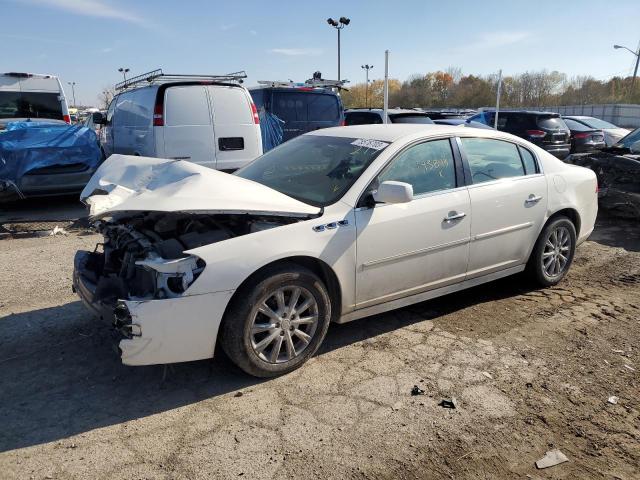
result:
[[[496,130],[484,129],[464,129],[473,130],[473,134],[478,136],[507,137]],[[417,136],[421,133],[427,135],[461,135],[464,132],[460,125],[430,125],[412,123],[388,123],[372,125],[352,125],[349,127],[332,127],[315,130],[307,135],[321,135],[327,137],[363,138],[367,140],[380,140],[383,142],[395,142],[404,137]],[[469,132],[465,132],[469,133]]]

